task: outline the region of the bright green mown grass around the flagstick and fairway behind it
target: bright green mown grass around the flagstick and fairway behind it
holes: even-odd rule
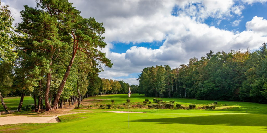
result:
[[[114,99],[115,103],[125,103],[127,95],[96,96],[88,99]],[[132,94],[131,102],[142,102],[153,98]],[[163,98],[175,103],[209,104],[213,101],[195,99]],[[111,103],[110,100],[91,101],[94,103]],[[221,110],[177,110],[177,109],[135,109],[130,111],[147,112],[147,114],[110,113],[111,109],[74,109],[73,112],[91,111],[89,113],[59,116],[60,123],[25,123],[0,126],[0,132],[267,132],[267,105],[250,102],[218,101],[235,108]],[[128,111],[127,109],[118,111]],[[247,111],[247,112],[246,112]]]

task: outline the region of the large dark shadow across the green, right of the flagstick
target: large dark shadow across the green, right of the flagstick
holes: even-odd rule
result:
[[[131,122],[158,122],[159,124],[195,124],[227,126],[264,126],[267,127],[267,116],[259,114],[224,114],[208,116],[191,116],[177,118],[139,119]]]

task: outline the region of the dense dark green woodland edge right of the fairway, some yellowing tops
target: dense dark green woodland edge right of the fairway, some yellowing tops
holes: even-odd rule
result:
[[[267,44],[256,51],[211,50],[173,69],[146,67],[138,80],[146,96],[267,103]]]

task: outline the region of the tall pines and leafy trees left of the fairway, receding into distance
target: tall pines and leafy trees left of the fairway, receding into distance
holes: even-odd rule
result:
[[[34,98],[35,108],[52,110],[62,102],[87,96],[126,93],[128,83],[101,79],[102,66],[113,63],[100,50],[107,44],[103,23],[83,18],[67,0],[36,0],[37,7],[24,6],[22,21],[14,19],[8,5],[0,7],[0,99]]]

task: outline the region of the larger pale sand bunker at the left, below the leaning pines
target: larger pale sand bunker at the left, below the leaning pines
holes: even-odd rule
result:
[[[0,117],[0,125],[17,123],[55,123],[59,122],[58,116],[30,117],[30,116],[6,116]]]

